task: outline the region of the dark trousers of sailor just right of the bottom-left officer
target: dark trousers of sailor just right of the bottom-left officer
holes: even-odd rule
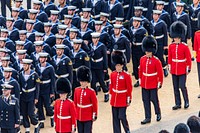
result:
[[[29,118],[31,120],[31,124],[33,125],[37,125],[38,124],[38,120],[36,118],[36,115],[34,113],[34,107],[35,107],[35,103],[34,101],[20,101],[20,107],[21,107],[21,111],[22,111],[22,116],[23,116],[23,125],[25,128],[29,128],[30,127],[30,122],[29,122]]]

